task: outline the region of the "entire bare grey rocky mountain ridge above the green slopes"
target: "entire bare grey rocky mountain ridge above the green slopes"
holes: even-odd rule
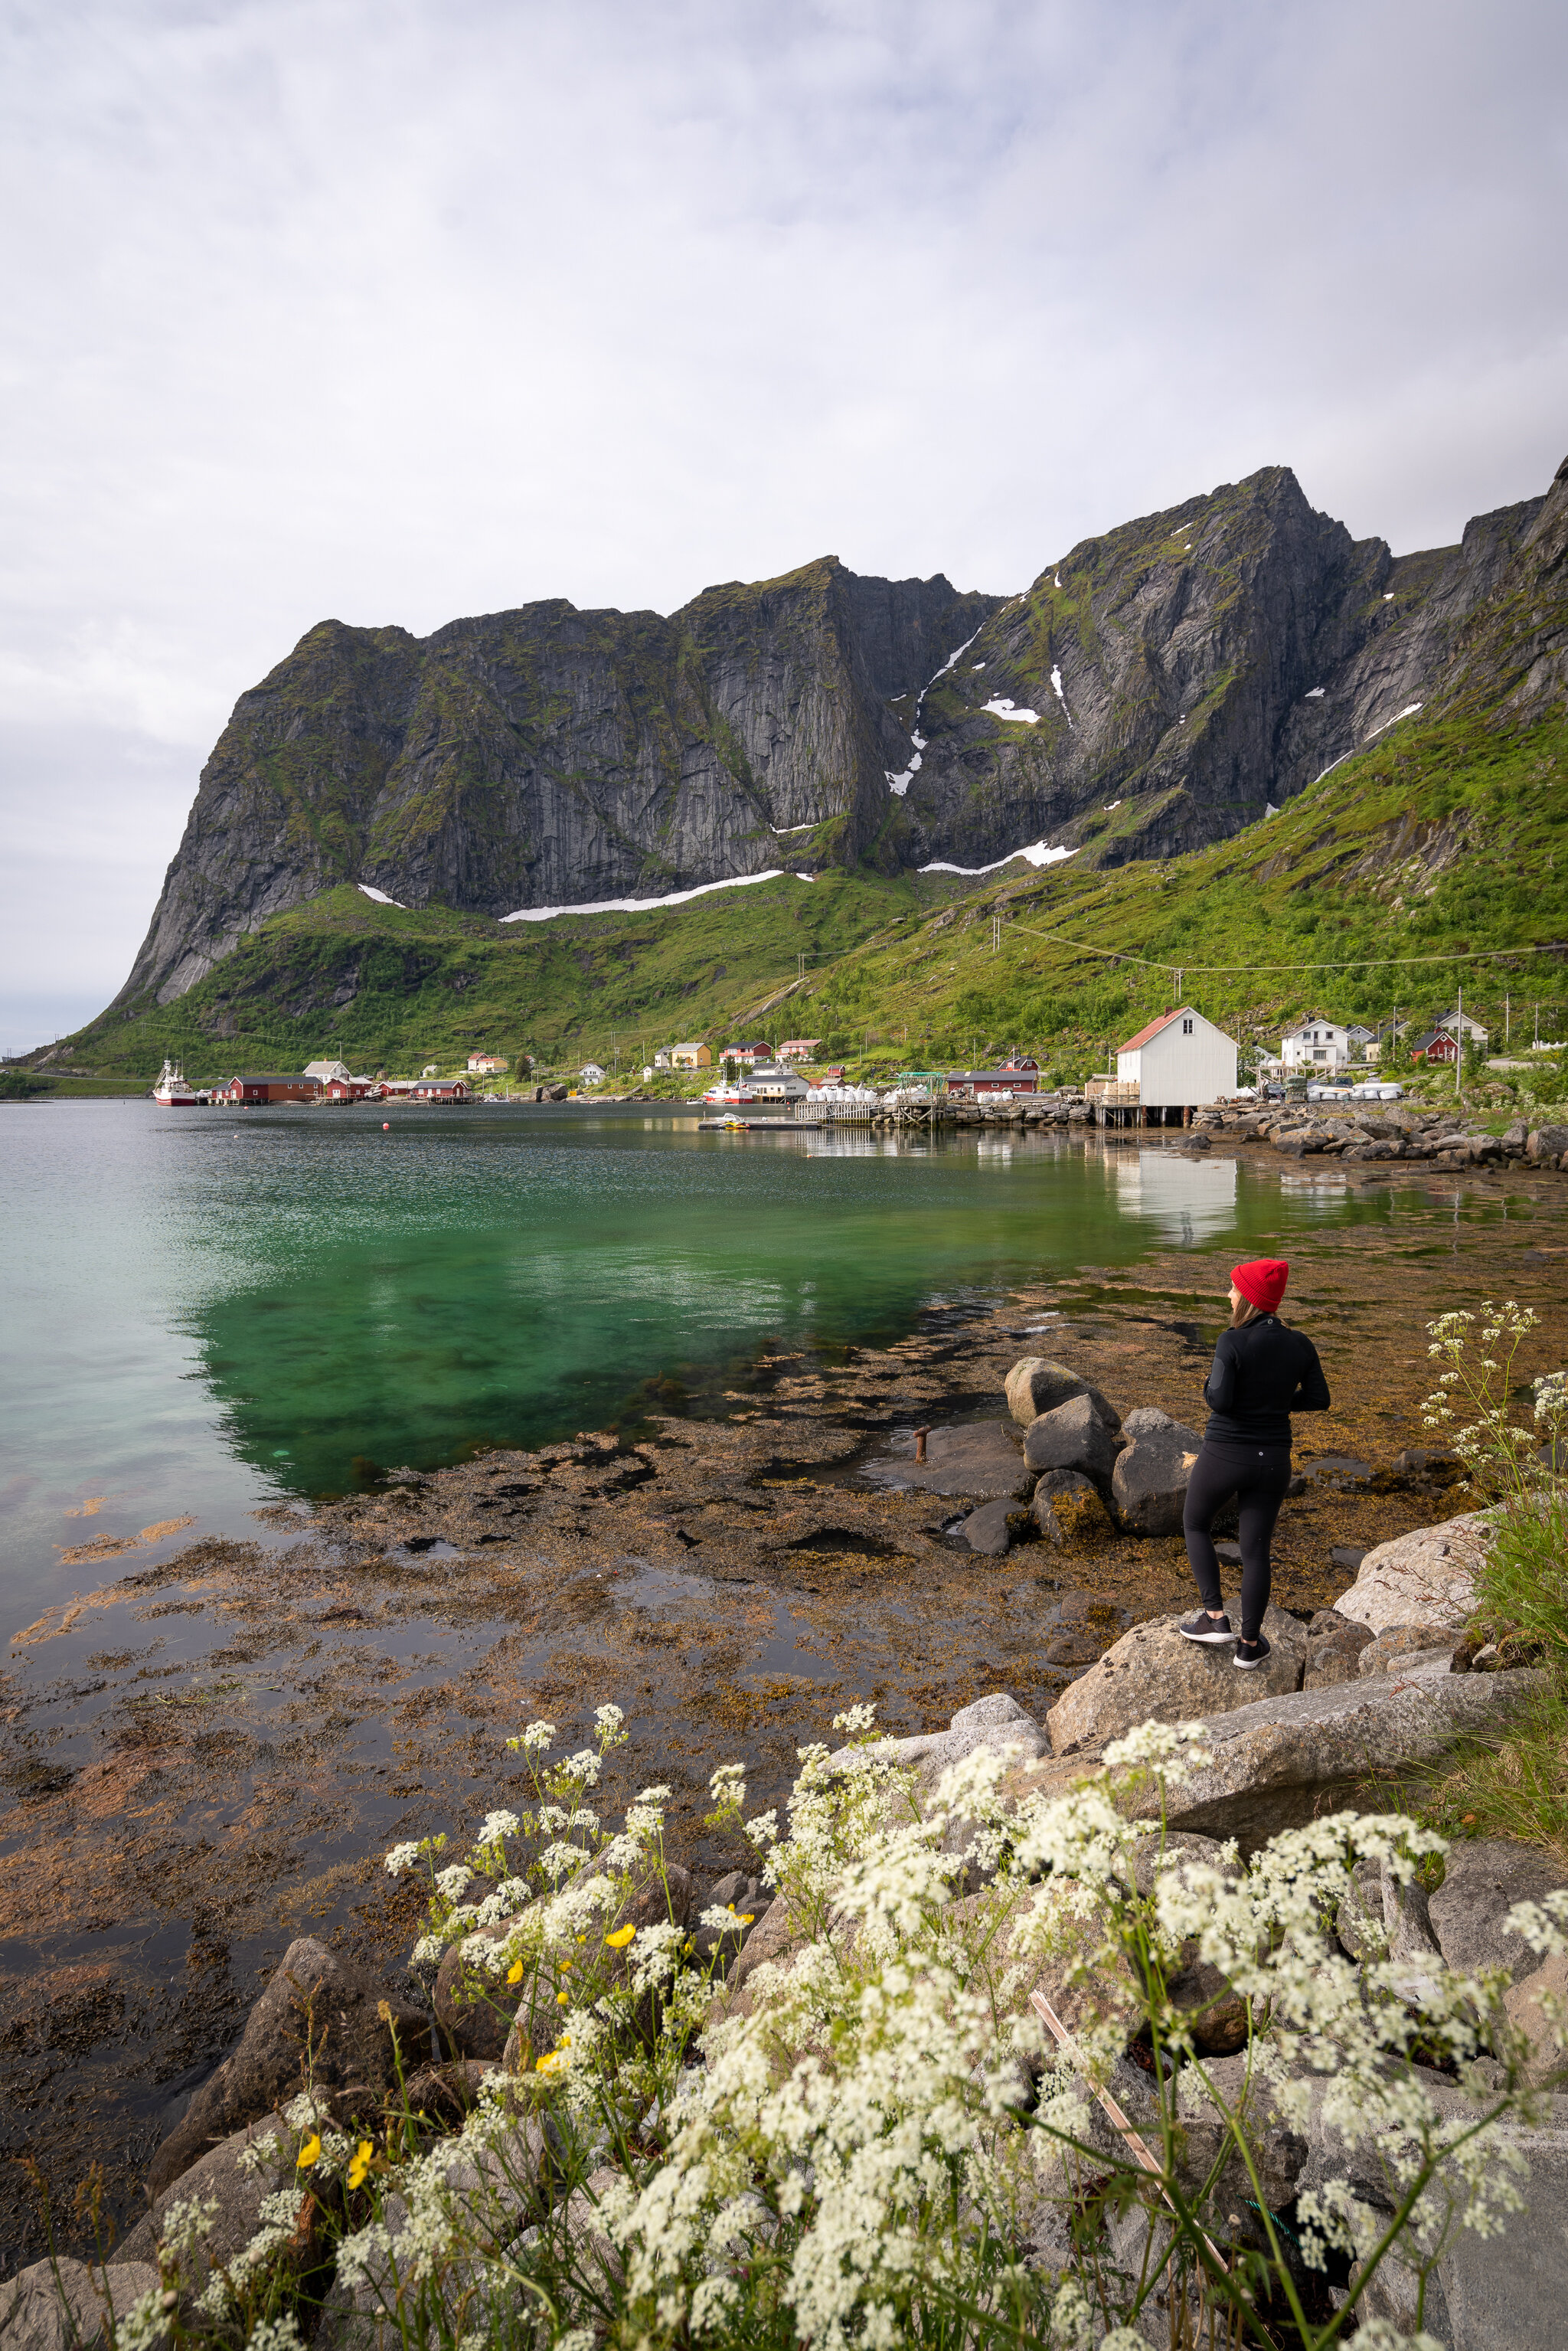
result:
[[[1272,465],[1009,600],[823,557],[670,618],[322,621],[240,696],[115,1002],[172,1002],[341,882],[503,917],[778,865],[1199,849],[1415,708],[1561,701],[1566,543],[1568,468],[1394,557]]]

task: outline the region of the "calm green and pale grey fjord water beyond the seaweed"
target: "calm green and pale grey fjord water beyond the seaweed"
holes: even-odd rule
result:
[[[193,1533],[252,1538],[252,1509],[343,1491],[355,1462],[569,1436],[637,1411],[649,1380],[712,1399],[762,1340],[886,1340],[933,1300],[1173,1244],[1225,1258],[1222,1295],[1232,1246],[1387,1215],[1154,1140],[731,1138],[642,1107],[388,1124],[0,1110],[7,1606],[85,1589],[61,1552],[94,1538],[190,1519],[141,1547],[153,1561]]]

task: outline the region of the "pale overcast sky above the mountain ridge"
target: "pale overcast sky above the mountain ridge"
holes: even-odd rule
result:
[[[324,616],[1011,590],[1568,451],[1561,0],[9,0],[0,1051]]]

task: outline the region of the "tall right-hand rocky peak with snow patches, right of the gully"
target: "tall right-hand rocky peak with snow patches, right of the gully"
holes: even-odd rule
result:
[[[976,868],[1044,839],[1114,865],[1255,823],[1453,691],[1540,510],[1396,560],[1267,468],[1084,541],[926,689],[900,853]]]

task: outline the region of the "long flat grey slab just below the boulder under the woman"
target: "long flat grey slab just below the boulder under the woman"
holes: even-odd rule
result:
[[[1234,1674],[1244,1695],[1253,1679]],[[1535,1669],[1450,1674],[1446,1665],[1418,1665],[1399,1676],[1373,1674],[1234,1707],[1206,1723],[1208,1770],[1166,1789],[1166,1822],[1234,1836],[1251,1853],[1279,1829],[1338,1810],[1371,1773],[1401,1773],[1446,1754],[1455,1740],[1490,1737],[1544,1681]],[[1056,1712],[1048,1721],[1056,1733]],[[1138,1817],[1159,1808],[1157,1787],[1133,1799]],[[1373,1791],[1366,1808],[1387,1810],[1387,1791]]]

